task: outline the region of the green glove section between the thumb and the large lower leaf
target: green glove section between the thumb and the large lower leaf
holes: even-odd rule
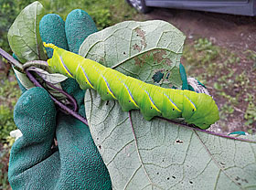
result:
[[[62,167],[59,184],[63,188],[72,185],[74,189],[112,189],[110,175],[88,126],[60,112],[56,136]]]

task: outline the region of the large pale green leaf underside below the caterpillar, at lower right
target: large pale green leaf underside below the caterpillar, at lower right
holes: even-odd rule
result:
[[[113,189],[256,189],[256,143],[124,113],[118,102],[85,98],[93,140]],[[251,139],[256,139],[251,136]]]

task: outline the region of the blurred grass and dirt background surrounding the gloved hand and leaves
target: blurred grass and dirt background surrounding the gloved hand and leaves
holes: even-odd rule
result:
[[[132,4],[133,1],[128,2]],[[32,2],[0,0],[0,47],[10,54],[6,37],[8,28],[19,12]],[[41,0],[40,3],[48,13],[59,14],[64,20],[71,10],[83,9],[91,15],[99,30],[124,20],[170,22],[187,36],[181,60],[187,76],[205,84],[219,105],[220,121],[216,130],[223,133],[256,132],[255,16],[159,7],[147,9],[150,12],[144,15],[124,0],[80,0],[76,3]],[[0,189],[11,189],[7,168],[14,139],[9,132],[16,129],[13,110],[20,95],[10,65],[0,58]]]

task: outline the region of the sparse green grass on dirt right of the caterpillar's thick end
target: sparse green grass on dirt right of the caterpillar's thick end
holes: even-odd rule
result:
[[[186,44],[183,58],[188,75],[206,84],[217,100],[222,131],[255,132],[256,53],[231,52],[213,45],[207,38],[198,38]],[[233,127],[238,118],[239,126]]]

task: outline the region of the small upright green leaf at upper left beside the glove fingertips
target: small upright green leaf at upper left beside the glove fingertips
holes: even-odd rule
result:
[[[42,16],[43,5],[36,1],[20,12],[8,31],[9,45],[22,63],[47,58],[39,35],[39,22]]]

